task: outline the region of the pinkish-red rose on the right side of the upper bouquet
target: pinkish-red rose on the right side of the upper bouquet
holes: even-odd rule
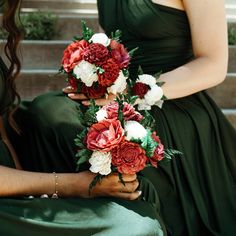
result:
[[[128,67],[130,62],[130,56],[124,45],[117,42],[116,40],[112,40],[110,43],[111,47],[111,55],[116,63],[119,65],[120,69],[124,69]]]

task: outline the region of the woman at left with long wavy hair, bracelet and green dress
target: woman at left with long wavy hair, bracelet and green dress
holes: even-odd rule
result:
[[[63,166],[63,161],[58,161],[54,167],[50,159],[45,164],[45,159],[42,160],[45,162],[42,166],[48,168],[41,168],[40,165],[33,168],[35,163],[31,162],[30,156],[24,162],[18,160],[14,145],[8,139],[3,118],[9,119],[9,123],[18,128],[11,117],[14,102],[19,98],[14,81],[20,71],[16,53],[20,31],[15,22],[20,0],[0,3],[1,6],[4,4],[3,27],[9,33],[5,52],[10,60],[7,68],[0,59],[0,234],[163,235],[164,229],[156,212],[158,199],[155,190],[144,179],[138,181],[136,175],[124,175],[124,186],[118,176],[112,174],[97,184],[89,195],[88,187],[94,178],[94,174],[89,171],[55,173],[63,170],[69,172],[69,169]],[[20,132],[25,135],[24,129]],[[43,142],[44,134],[41,135]],[[37,145],[35,152],[40,152]],[[58,160],[57,156],[54,157]],[[61,168],[58,167],[60,165]],[[28,167],[28,171],[22,170],[24,166]],[[41,172],[32,172],[36,169]],[[138,186],[143,191],[142,196]],[[146,201],[136,200],[141,197],[145,197]]]

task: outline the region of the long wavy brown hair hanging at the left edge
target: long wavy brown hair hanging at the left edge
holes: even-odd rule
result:
[[[5,0],[3,4],[4,13],[2,26],[8,33],[4,52],[10,62],[6,75],[6,89],[10,97],[10,104],[8,104],[8,110],[10,111],[9,121],[13,128],[17,130],[17,125],[13,119],[13,113],[20,103],[20,96],[16,91],[15,79],[19,75],[21,69],[21,62],[17,55],[17,48],[21,40],[21,30],[19,29],[21,0]],[[14,103],[16,106],[13,107],[12,105]]]

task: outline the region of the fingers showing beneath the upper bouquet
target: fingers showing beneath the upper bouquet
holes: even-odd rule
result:
[[[72,89],[71,86],[64,88],[63,92],[66,93],[70,99],[76,100],[76,101],[81,101],[84,106],[89,106],[88,98],[84,94],[77,93],[77,91]],[[104,106],[104,105],[107,105],[108,103],[114,101],[115,98],[116,98],[116,95],[110,93],[106,98],[95,99],[95,103],[98,106]]]

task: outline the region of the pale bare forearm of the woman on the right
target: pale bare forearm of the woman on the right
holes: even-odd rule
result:
[[[227,58],[227,55],[225,55]],[[164,73],[160,81],[168,99],[185,97],[221,83],[226,76],[227,60],[199,57],[173,71]]]

